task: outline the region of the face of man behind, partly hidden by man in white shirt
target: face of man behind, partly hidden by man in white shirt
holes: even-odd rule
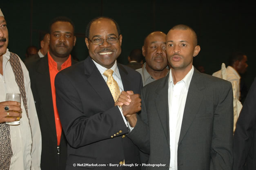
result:
[[[160,31],[153,32],[145,39],[142,54],[146,60],[146,68],[154,71],[163,71],[167,66],[166,34]]]

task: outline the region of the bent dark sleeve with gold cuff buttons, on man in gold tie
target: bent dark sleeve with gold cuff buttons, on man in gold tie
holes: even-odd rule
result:
[[[118,106],[94,113],[93,108],[89,106],[90,103],[82,103],[80,96],[85,94],[77,91],[76,83],[79,82],[72,82],[61,72],[55,78],[56,104],[70,146],[79,148],[128,132]]]

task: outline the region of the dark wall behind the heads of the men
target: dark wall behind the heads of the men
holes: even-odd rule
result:
[[[76,26],[76,46],[72,55],[80,61],[88,56],[85,27],[97,16],[108,16],[120,25],[122,53],[118,62],[127,64],[134,48],[141,48],[152,31],[167,33],[176,24],[191,26],[198,35],[201,51],[194,65],[203,65],[207,74],[227,64],[233,51],[243,51],[248,57],[248,69],[242,77],[247,87],[256,76],[256,5],[241,0],[204,3],[202,0],[0,0],[7,20],[9,50],[25,57],[27,46],[40,47],[42,33],[56,16],[67,16]]]

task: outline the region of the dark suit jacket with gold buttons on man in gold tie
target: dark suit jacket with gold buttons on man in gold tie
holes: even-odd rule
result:
[[[140,74],[121,64],[118,64],[118,70],[124,91],[140,93]],[[128,133],[128,128],[91,57],[60,71],[55,86],[60,121],[69,143],[66,170],[112,170],[116,168],[110,163],[119,164],[124,159],[127,164],[140,163],[139,150],[123,136]],[[80,168],[77,163],[85,163],[85,167]],[[86,163],[105,164],[106,167],[90,167]],[[123,169],[138,170],[140,167]]]

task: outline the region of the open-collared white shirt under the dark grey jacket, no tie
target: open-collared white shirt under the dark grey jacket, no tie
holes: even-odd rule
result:
[[[169,74],[168,80],[168,101],[169,101],[169,132],[170,132],[170,168],[177,170],[177,151],[178,141],[180,137],[181,123],[185,103],[187,99],[187,92],[194,73],[194,66],[187,75],[174,85],[173,77]]]

